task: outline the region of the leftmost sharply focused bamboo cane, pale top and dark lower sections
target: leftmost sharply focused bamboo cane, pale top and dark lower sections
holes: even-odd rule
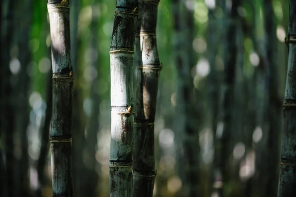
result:
[[[53,197],[72,197],[72,88],[69,0],[49,0],[53,109],[50,133]]]

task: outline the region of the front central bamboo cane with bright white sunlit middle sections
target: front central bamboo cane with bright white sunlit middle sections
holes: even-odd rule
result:
[[[132,195],[133,55],[138,0],[116,0],[111,37],[110,197]]]

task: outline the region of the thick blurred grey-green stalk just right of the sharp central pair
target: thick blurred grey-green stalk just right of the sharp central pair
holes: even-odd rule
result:
[[[178,132],[177,144],[183,149],[178,153],[179,175],[182,174],[182,181],[188,188],[187,196],[198,197],[199,193],[199,145],[198,145],[198,122],[196,116],[194,87],[191,77],[193,62],[193,12],[186,7],[186,2],[182,0],[173,0],[174,14],[174,48],[175,62],[178,72],[178,89],[177,89],[177,107],[176,107],[176,130]],[[178,125],[177,125],[178,124]],[[197,125],[196,125],[197,124]]]

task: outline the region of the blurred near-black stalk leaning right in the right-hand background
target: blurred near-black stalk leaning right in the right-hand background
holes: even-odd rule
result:
[[[225,196],[225,187],[229,183],[229,158],[231,156],[232,150],[230,147],[230,138],[233,126],[233,117],[231,116],[233,110],[233,99],[234,99],[234,81],[235,81],[235,65],[237,61],[237,46],[235,39],[237,34],[237,23],[238,12],[237,8],[240,6],[241,0],[232,1],[230,13],[225,13],[230,20],[230,24],[226,26],[225,35],[225,54],[224,54],[224,76],[222,84],[222,106],[220,111],[220,121],[222,131],[220,135],[220,155],[219,159],[219,171],[221,173],[220,181],[222,184],[216,185],[219,192],[219,197]],[[219,188],[221,187],[221,188]]]

